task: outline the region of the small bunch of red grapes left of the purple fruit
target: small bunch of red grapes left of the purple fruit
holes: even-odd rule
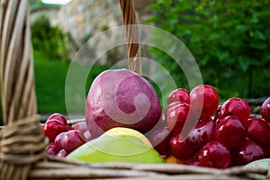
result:
[[[60,113],[49,116],[43,125],[43,133],[49,138],[49,146],[46,148],[48,154],[56,157],[66,157],[74,149],[93,139],[85,121],[71,125]]]

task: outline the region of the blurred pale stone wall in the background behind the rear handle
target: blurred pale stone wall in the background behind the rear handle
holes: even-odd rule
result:
[[[143,23],[151,15],[148,10],[151,3],[146,0],[134,0],[134,4],[138,23]],[[75,49],[70,47],[70,58],[74,57],[78,47],[81,47],[94,35],[122,25],[119,0],[73,0],[60,8],[58,18],[60,28],[68,31],[72,37],[72,43],[76,44],[76,46],[73,46]],[[116,38],[108,36],[103,37],[103,40],[94,41],[94,46],[89,47],[89,51],[96,53],[103,48],[104,40],[115,41]],[[123,51],[122,48],[112,49],[101,58],[101,62],[110,64],[112,58],[121,58],[123,53],[126,54],[126,51]],[[108,58],[111,58],[111,61]]]

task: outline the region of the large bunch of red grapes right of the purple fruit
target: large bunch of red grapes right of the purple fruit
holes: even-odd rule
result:
[[[261,106],[261,115],[250,118],[248,103],[238,97],[220,105],[211,85],[198,85],[190,93],[179,88],[169,94],[165,125],[150,140],[161,156],[173,156],[177,163],[243,166],[270,155],[270,97]],[[189,124],[195,125],[185,136],[182,130]]]

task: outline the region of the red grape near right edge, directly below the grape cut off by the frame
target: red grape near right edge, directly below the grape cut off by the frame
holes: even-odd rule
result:
[[[247,136],[261,145],[270,145],[270,126],[263,119],[249,119],[247,121]]]

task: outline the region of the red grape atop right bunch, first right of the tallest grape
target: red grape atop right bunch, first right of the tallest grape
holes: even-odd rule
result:
[[[220,118],[224,118],[228,115],[237,116],[239,120],[246,125],[250,115],[250,107],[245,100],[238,97],[232,97],[224,102],[220,108]]]

